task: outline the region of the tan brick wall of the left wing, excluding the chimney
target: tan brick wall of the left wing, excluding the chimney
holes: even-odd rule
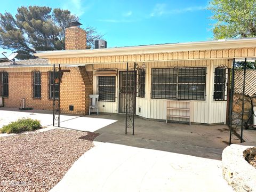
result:
[[[89,112],[89,94],[92,94],[92,72],[83,67],[62,67],[70,72],[63,73],[60,84],[61,113],[85,115]],[[37,69],[38,70],[38,69]],[[31,72],[9,73],[9,97],[4,98],[5,107],[20,107],[25,98],[26,107],[52,110],[53,100],[48,98],[48,75],[41,72],[41,99],[32,98]],[[69,106],[74,110],[70,111]]]

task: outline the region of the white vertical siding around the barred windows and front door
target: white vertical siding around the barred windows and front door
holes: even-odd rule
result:
[[[146,63],[146,87],[145,98],[136,99],[136,114],[145,118],[166,119],[166,100],[151,99],[151,68],[166,67],[206,67],[206,97],[205,101],[191,101],[191,122],[194,123],[225,123],[226,120],[226,101],[213,100],[214,67],[226,65],[231,67],[231,60],[187,60],[187,61],[158,61]],[[142,62],[139,63],[141,65]],[[129,63],[133,66],[134,63]],[[126,63],[105,63],[95,64],[94,70],[103,68],[116,68],[125,70]],[[131,67],[132,68],[132,67]],[[118,113],[118,82],[119,74],[116,77],[116,102],[99,102],[100,112]],[[97,77],[93,77],[93,93],[97,93]],[[105,105],[105,107],[103,107]],[[141,111],[139,113],[139,107]],[[184,111],[177,111],[177,115],[182,115]],[[179,119],[184,121],[184,119]]]

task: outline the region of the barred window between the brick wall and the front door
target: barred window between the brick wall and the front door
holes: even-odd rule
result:
[[[111,84],[110,85],[107,85],[107,84],[100,85],[99,83],[102,82],[102,81],[100,81],[100,78],[105,78],[105,81],[103,81],[103,82],[106,82],[106,83],[111,82],[111,80],[107,81],[108,78],[109,79],[113,78],[114,79],[114,83],[113,83],[114,85],[111,85]],[[112,81],[113,81],[113,79],[112,79]],[[100,93],[100,90],[99,90],[100,87],[107,87],[107,88],[114,87],[114,92],[109,93],[111,90],[107,90],[103,93]],[[116,76],[97,76],[97,94],[99,95],[99,100],[98,101],[101,101],[101,102],[116,102]],[[107,99],[102,99],[101,98],[102,94],[107,94],[107,97],[106,97]],[[110,94],[110,95],[108,95],[108,94]]]

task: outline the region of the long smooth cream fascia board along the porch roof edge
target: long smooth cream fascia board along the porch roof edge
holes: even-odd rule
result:
[[[131,47],[114,47],[94,50],[63,50],[44,51],[34,55],[39,58],[69,58],[69,57],[103,57],[113,55],[152,54],[165,52],[199,51],[199,50],[225,50],[244,47],[256,47],[256,38],[221,39],[218,41],[189,42],[159,45],[142,45]]]

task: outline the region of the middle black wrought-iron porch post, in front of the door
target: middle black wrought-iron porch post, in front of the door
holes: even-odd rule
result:
[[[125,134],[127,134],[127,129],[132,129],[134,135],[137,90],[141,90],[140,87],[137,87],[137,85],[141,85],[141,79],[137,78],[137,75],[145,78],[145,63],[139,67],[135,62],[133,66],[129,66],[127,62],[125,73]],[[145,95],[145,92],[139,91],[139,95]]]

